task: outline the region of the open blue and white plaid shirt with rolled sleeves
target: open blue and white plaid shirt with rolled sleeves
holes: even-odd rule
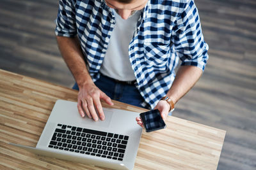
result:
[[[108,48],[115,16],[104,0],[60,0],[56,35],[78,36],[93,81]],[[175,78],[175,67],[197,66],[208,59],[198,11],[193,0],[148,0],[129,44],[136,87],[154,108]]]

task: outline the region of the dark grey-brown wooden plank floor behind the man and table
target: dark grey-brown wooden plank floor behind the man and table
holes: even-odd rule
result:
[[[218,169],[256,169],[256,1],[196,0],[209,62],[175,117],[227,131]],[[58,0],[0,0],[0,68],[67,87],[54,38]]]

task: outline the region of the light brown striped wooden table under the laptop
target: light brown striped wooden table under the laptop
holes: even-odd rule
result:
[[[102,169],[8,145],[36,146],[57,99],[76,101],[77,91],[0,69],[0,169]],[[114,108],[145,111],[114,103]],[[176,117],[168,117],[166,125],[161,131],[143,131],[134,169],[217,168],[225,131]]]

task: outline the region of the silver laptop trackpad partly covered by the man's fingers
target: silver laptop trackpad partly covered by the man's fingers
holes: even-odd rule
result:
[[[107,108],[104,108],[103,111],[105,115],[105,120],[102,121],[99,119],[98,121],[95,122],[92,118],[88,118],[85,116],[84,118],[80,119],[81,123],[90,125],[90,126],[96,126],[96,127],[109,127],[109,124],[112,119],[113,111],[110,111]]]

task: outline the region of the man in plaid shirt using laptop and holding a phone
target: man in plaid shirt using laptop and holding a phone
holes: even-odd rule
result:
[[[60,0],[56,36],[79,113],[95,121],[104,120],[100,99],[111,98],[165,119],[208,59],[193,0]]]

